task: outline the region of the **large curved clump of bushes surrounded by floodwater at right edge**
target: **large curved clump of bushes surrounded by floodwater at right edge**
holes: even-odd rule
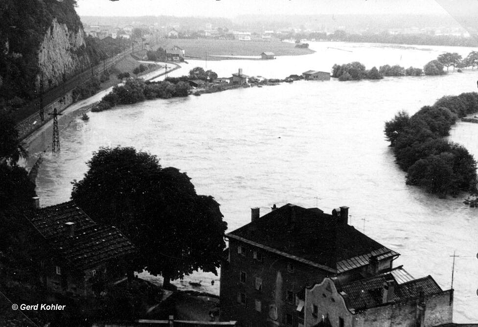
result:
[[[400,112],[385,123],[385,135],[407,184],[446,196],[476,191],[477,162],[459,144],[448,142],[450,128],[459,117],[478,111],[478,93],[443,96],[415,115]]]

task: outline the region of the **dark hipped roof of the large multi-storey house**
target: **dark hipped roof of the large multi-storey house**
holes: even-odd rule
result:
[[[318,208],[291,204],[227,236],[332,273],[367,265],[373,256],[381,260],[399,255]]]

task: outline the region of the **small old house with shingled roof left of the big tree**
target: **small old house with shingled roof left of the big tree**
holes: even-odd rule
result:
[[[97,225],[73,201],[38,207],[26,219],[42,248],[38,260],[48,290],[88,296],[130,272],[136,249],[116,227]]]

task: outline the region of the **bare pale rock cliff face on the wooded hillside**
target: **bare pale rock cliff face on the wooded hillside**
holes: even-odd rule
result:
[[[38,50],[36,88],[40,89],[43,78],[45,90],[61,85],[64,74],[68,79],[72,75],[90,67],[90,58],[86,53],[83,27],[77,31],[69,30],[67,24],[58,23],[54,18],[46,30]]]

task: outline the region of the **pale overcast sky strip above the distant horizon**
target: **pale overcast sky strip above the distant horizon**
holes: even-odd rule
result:
[[[446,14],[434,0],[77,0],[77,3],[80,16]]]

